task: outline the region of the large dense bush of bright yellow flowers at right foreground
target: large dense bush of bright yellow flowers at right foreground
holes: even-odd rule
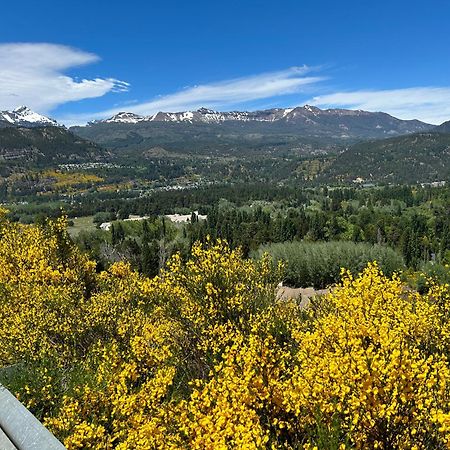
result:
[[[436,412],[447,408],[450,372],[446,355],[433,350],[433,299],[371,265],[357,279],[346,275],[327,300],[329,312],[295,336],[299,350],[282,390],[287,411],[302,427],[338,423],[335,431],[357,448],[445,442]]]

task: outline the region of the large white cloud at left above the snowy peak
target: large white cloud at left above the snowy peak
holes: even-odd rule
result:
[[[63,103],[126,90],[128,83],[114,78],[75,80],[64,75],[98,60],[92,53],[63,45],[0,44],[0,109],[27,105],[47,113]]]

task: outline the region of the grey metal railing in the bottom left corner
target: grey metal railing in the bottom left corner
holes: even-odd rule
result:
[[[65,450],[64,445],[1,384],[0,450]]]

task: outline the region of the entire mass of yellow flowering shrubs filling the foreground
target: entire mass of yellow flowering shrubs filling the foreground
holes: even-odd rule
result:
[[[448,285],[374,263],[303,310],[221,241],[148,279],[64,219],[0,236],[0,381],[70,450],[450,447]]]

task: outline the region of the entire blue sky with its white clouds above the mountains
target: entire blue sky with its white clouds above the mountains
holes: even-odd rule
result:
[[[450,2],[31,1],[0,15],[0,110],[67,124],[314,104],[450,119]]]

